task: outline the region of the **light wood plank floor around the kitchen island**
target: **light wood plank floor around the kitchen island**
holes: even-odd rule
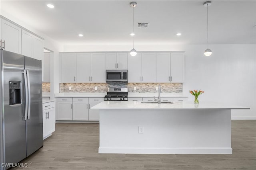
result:
[[[256,121],[232,121],[233,154],[99,154],[99,124],[57,123],[30,170],[255,170]]]

